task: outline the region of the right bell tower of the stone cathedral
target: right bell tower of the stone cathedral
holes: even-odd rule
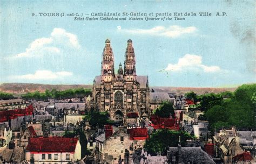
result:
[[[124,80],[125,81],[134,81],[136,80],[136,67],[135,67],[135,54],[132,47],[132,40],[127,41],[127,48],[125,52],[125,61],[124,61]]]

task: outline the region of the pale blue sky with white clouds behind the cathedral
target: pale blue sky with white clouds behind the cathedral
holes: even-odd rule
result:
[[[194,12],[185,20],[75,21],[39,12]],[[198,12],[213,16],[200,17]],[[227,16],[215,16],[226,12]],[[31,16],[35,13],[37,16]],[[137,75],[151,86],[255,82],[253,1],[1,1],[0,83],[92,84],[105,40],[115,68],[133,40]],[[127,17],[129,18],[129,17]]]

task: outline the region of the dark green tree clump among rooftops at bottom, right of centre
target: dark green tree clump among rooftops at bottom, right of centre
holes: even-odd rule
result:
[[[151,134],[150,138],[146,140],[144,148],[146,148],[147,152],[151,155],[156,155],[159,152],[165,154],[168,147],[178,146],[179,136],[181,146],[185,146],[187,139],[193,138],[186,132],[160,129]]]

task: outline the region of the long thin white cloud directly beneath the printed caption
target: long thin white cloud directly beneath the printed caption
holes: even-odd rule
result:
[[[140,29],[140,28],[123,29],[122,31],[126,33],[131,33],[131,34],[149,34],[154,36],[177,38],[183,34],[194,33],[197,31],[197,28],[194,26],[181,27],[181,26],[173,25],[169,27],[156,26],[150,29]]]

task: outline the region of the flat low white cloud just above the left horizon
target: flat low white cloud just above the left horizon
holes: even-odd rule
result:
[[[11,79],[23,80],[55,80],[63,77],[72,76],[72,72],[51,72],[51,70],[37,70],[35,74],[26,74],[19,76],[11,76]]]

